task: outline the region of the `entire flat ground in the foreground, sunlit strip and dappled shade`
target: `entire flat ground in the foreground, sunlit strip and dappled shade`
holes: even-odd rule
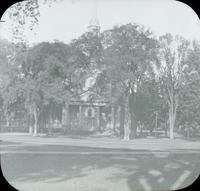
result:
[[[1,168],[24,191],[177,190],[200,174],[200,141],[0,134]]]

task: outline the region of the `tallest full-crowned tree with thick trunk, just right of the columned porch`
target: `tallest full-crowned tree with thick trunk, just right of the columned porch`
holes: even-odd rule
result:
[[[149,31],[127,24],[105,31],[102,44],[109,97],[124,103],[121,110],[125,108],[125,123],[130,128],[130,137],[134,138],[136,95],[145,76],[151,75],[157,63],[157,41]]]

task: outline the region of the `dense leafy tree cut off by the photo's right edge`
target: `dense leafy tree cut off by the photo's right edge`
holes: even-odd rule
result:
[[[200,127],[200,44],[194,41],[188,52],[184,84],[180,95],[179,124]]]

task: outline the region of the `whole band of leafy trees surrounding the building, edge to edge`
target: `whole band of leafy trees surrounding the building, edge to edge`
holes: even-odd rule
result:
[[[0,46],[1,113],[9,122],[23,108],[34,121],[34,134],[54,115],[52,108],[85,91],[85,81],[95,72],[90,90],[120,111],[122,137],[129,129],[135,138],[138,124],[151,126],[155,120],[152,126],[166,124],[170,138],[179,126],[200,125],[198,42],[170,34],[156,39],[130,23],[86,32],[69,44],[24,47],[1,40]]]

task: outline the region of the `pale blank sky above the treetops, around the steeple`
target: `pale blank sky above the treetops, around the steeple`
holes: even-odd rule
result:
[[[48,0],[47,0],[48,2]],[[143,25],[155,36],[169,32],[189,40],[200,40],[200,21],[188,5],[173,0],[57,0],[51,7],[40,4],[40,18],[34,33],[26,31],[30,44],[43,41],[69,43],[88,29],[95,15],[101,31],[130,22]],[[96,4],[96,11],[94,5]],[[10,39],[10,22],[4,13],[0,37]]]

